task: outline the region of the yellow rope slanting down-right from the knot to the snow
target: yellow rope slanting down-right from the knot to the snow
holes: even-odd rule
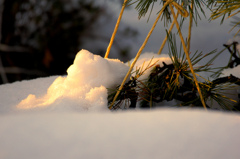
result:
[[[175,19],[175,22],[176,22],[175,24],[176,24],[176,27],[177,27],[177,29],[178,29],[178,31],[179,31],[179,37],[180,37],[180,39],[181,39],[181,42],[182,42],[182,45],[183,45],[183,49],[184,49],[184,52],[185,52],[185,54],[186,54],[186,57],[187,57],[187,60],[188,60],[188,64],[189,64],[189,67],[190,67],[190,69],[191,69],[191,72],[192,72],[192,75],[193,75],[193,78],[194,78],[194,81],[195,81],[195,84],[196,84],[196,87],[197,87],[197,90],[198,90],[198,93],[199,93],[199,96],[200,96],[202,105],[203,105],[204,109],[207,110],[205,101],[204,101],[203,96],[202,96],[202,92],[201,92],[201,90],[200,90],[200,87],[199,87],[199,85],[198,85],[198,81],[197,81],[196,75],[195,75],[194,70],[193,70],[192,62],[191,62],[191,59],[190,59],[190,57],[189,57],[189,53],[188,53],[187,47],[186,47],[186,45],[185,45],[185,42],[184,42],[184,39],[183,39],[181,30],[180,30],[179,24],[178,24],[178,22],[177,22],[177,17],[176,17],[176,15],[175,15],[175,13],[174,13],[173,7],[172,7],[171,5],[169,5],[169,6],[170,6],[170,9],[171,9],[173,18]]]

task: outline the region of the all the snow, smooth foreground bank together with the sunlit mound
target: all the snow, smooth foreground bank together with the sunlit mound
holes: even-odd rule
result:
[[[143,54],[137,66],[141,60],[170,62],[153,55]],[[67,76],[1,85],[0,158],[240,157],[239,114],[186,108],[109,111],[107,88],[121,83],[128,68],[81,50]]]

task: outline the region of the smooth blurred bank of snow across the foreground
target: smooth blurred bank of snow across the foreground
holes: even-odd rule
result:
[[[240,117],[202,110],[0,117],[0,158],[238,159]]]

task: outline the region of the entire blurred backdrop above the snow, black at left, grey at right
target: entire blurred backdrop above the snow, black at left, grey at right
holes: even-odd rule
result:
[[[104,56],[121,4],[122,0],[0,0],[0,84],[64,75],[81,49]],[[110,58],[124,62],[133,58],[159,11],[155,6],[149,21],[148,16],[139,20],[133,8],[124,11]],[[209,21],[208,9],[205,14],[193,26],[191,52],[220,51],[236,33],[229,32],[231,18],[220,25],[221,19]],[[158,51],[165,29],[158,22],[143,52]],[[184,37],[187,29],[186,22]],[[168,53],[167,47],[163,53]],[[225,51],[213,64],[225,66],[229,58]]]

